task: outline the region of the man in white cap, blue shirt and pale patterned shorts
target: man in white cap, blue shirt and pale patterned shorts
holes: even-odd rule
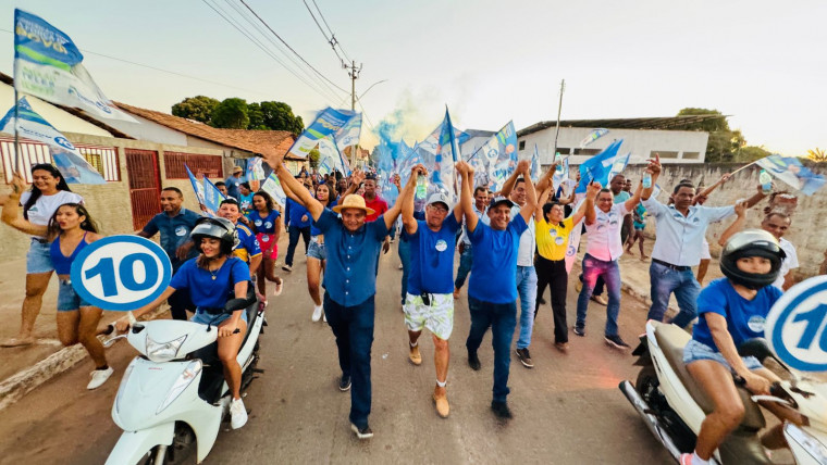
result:
[[[418,176],[411,174],[409,184],[416,185]],[[462,178],[469,183],[468,176]],[[433,401],[436,413],[445,418],[450,412],[445,384],[448,377],[448,337],[454,329],[454,249],[457,231],[462,221],[462,208],[450,210],[450,200],[443,192],[428,198],[425,219],[414,217],[414,197],[402,205],[402,221],[410,246],[410,274],[405,297],[405,326],[408,328],[409,360],[414,365],[422,363],[419,353],[419,336],[422,328],[431,331],[436,366],[436,387]]]

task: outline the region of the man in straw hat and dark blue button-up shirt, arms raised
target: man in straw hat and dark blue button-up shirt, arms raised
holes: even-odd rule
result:
[[[370,349],[373,344],[374,297],[379,250],[387,230],[399,215],[400,205],[414,196],[415,181],[405,185],[396,204],[377,221],[367,223],[372,213],[365,199],[349,194],[333,211],[325,209],[287,172],[284,155],[270,155],[267,163],[279,179],[307,208],[316,227],[324,235],[328,263],[324,268],[324,315],[338,349],[342,378],[338,388],[350,389],[350,429],[359,439],[373,437],[368,425],[371,404]],[[414,173],[424,171],[422,165]],[[358,173],[358,171],[357,171]],[[337,217],[336,213],[342,217]],[[353,384],[353,389],[351,389]]]

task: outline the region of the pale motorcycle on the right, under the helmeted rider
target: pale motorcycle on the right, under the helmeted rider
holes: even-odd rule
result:
[[[634,385],[625,380],[620,390],[644,423],[676,460],[695,448],[698,432],[713,403],[706,398],[683,364],[683,347],[691,336],[683,329],[655,321],[632,352],[641,366]],[[827,465],[827,385],[799,377],[778,360],[763,339],[746,341],[739,348],[742,356],[752,355],[765,364],[775,361],[787,375],[773,385],[770,395],[752,395],[739,387],[744,416],[709,461],[713,464],[773,464],[758,438],[766,425],[757,404],[777,402],[802,415],[806,426],[785,423],[783,435],[798,465]]]

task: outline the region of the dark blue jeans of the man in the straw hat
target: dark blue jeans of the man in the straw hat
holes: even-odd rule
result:
[[[370,415],[370,348],[373,345],[373,298],[343,306],[324,292],[324,316],[336,337],[338,366],[342,375],[349,376],[350,423],[359,428],[368,426]]]

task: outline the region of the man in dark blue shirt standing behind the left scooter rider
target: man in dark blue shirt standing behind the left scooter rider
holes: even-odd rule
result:
[[[165,187],[161,191],[162,213],[152,216],[138,236],[151,238],[161,232],[161,248],[166,252],[172,263],[173,275],[178,272],[181,265],[187,260],[198,255],[198,250],[193,248],[189,232],[195,227],[195,222],[200,218],[197,213],[182,208],[184,193],[177,187]],[[186,290],[175,292],[168,300],[170,313],[174,319],[187,319],[187,310],[194,311],[195,306],[189,300]]]

